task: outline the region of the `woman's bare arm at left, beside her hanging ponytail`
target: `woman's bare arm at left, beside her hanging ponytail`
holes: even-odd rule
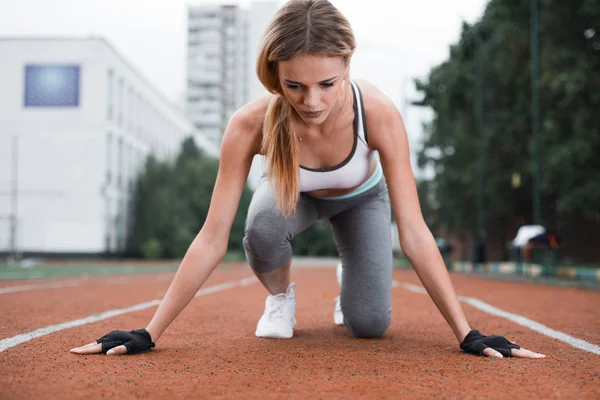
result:
[[[260,108],[260,107],[259,107]],[[227,251],[231,226],[250,165],[260,146],[258,108],[252,103],[239,110],[230,120],[221,145],[219,172],[212,193],[206,221],[189,246],[158,310],[146,327],[150,340],[156,342],[165,329],[195,296]],[[143,330],[140,330],[143,331]],[[121,335],[129,335],[126,332]],[[142,332],[142,335],[146,335]],[[131,336],[131,335],[129,335]],[[125,337],[122,340],[129,340]],[[111,339],[109,339],[111,340]],[[101,344],[92,342],[71,350],[78,354],[100,353]],[[108,354],[125,354],[125,346],[114,347]]]

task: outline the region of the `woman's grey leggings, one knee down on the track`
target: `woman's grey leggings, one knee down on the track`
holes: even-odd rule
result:
[[[244,249],[250,266],[270,272],[292,258],[290,241],[318,219],[327,219],[342,259],[340,294],[344,323],[357,337],[379,337],[390,324],[392,241],[390,202],[385,179],[346,199],[301,193],[296,214],[284,218],[271,185],[259,183],[246,220]]]

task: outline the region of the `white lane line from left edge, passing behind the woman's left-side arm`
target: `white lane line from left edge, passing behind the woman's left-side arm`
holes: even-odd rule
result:
[[[225,282],[225,283],[221,283],[221,284],[214,285],[214,286],[209,286],[207,288],[198,290],[198,292],[196,293],[196,295],[194,297],[202,296],[202,295],[209,294],[209,293],[219,292],[221,290],[231,289],[236,286],[248,286],[257,281],[258,281],[258,279],[256,277],[252,276],[249,278],[241,279],[239,281],[230,281],[230,282]],[[121,309],[117,309],[117,310],[110,310],[110,311],[103,312],[101,314],[90,315],[89,317],[76,319],[74,321],[64,322],[64,323],[58,324],[58,325],[47,326],[45,328],[40,328],[40,329],[37,329],[32,332],[23,333],[23,334],[13,336],[8,339],[2,339],[2,340],[0,340],[0,353],[6,349],[10,349],[11,347],[15,347],[21,343],[28,342],[28,341],[38,338],[40,336],[49,335],[54,332],[62,331],[62,330],[69,329],[69,328],[74,328],[76,326],[91,324],[91,323],[102,321],[102,320],[105,320],[108,318],[116,317],[117,315],[127,314],[127,313],[134,312],[134,311],[141,311],[141,310],[145,310],[147,308],[156,307],[160,304],[160,302],[161,302],[161,300],[147,301],[145,303],[136,304],[131,307],[121,308]]]

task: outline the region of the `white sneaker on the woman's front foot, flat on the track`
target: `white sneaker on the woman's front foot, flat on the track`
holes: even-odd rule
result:
[[[265,312],[256,325],[257,337],[289,339],[296,326],[296,284],[290,283],[285,293],[268,295]]]

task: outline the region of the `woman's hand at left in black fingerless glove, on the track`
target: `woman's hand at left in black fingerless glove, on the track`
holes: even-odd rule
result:
[[[146,329],[134,331],[112,331],[85,346],[71,349],[76,354],[106,353],[107,355],[137,354],[150,351],[154,347],[150,333]]]

